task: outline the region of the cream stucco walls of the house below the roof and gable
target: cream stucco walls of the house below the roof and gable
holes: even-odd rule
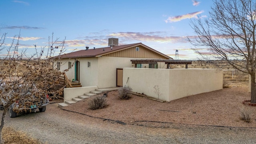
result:
[[[80,83],[82,86],[98,86],[99,88],[108,88],[116,86],[116,68],[134,68],[130,60],[146,58],[120,58],[102,56],[99,58],[76,58],[80,62]],[[60,71],[68,68],[68,62],[75,62],[74,58],[62,59]],[[90,68],[88,68],[90,62]],[[148,64],[142,64],[142,67],[148,68]],[[164,62],[158,62],[158,68],[166,68]],[[66,72],[70,81],[75,76],[75,66]]]

